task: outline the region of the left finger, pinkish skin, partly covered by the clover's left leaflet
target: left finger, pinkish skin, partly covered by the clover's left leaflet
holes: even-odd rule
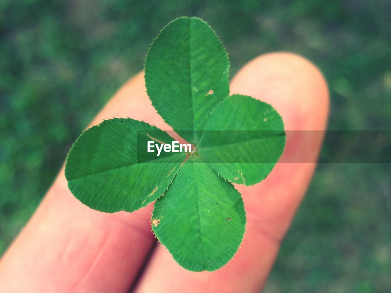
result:
[[[93,120],[127,117],[170,129],[131,79]],[[100,213],[70,193],[62,169],[36,213],[0,262],[2,292],[124,292],[154,236],[151,206],[135,213]]]

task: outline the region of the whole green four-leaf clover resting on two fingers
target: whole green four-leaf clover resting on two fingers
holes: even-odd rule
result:
[[[70,191],[93,209],[133,212],[158,199],[152,228],[174,259],[192,271],[217,270],[237,252],[246,214],[228,181],[260,182],[285,145],[282,118],[271,105],[228,96],[228,67],[223,46],[203,20],[170,22],[145,60],[147,92],[196,151],[187,160],[184,153],[151,157],[147,141],[172,138],[142,121],[115,118],[83,132],[66,161]]]

